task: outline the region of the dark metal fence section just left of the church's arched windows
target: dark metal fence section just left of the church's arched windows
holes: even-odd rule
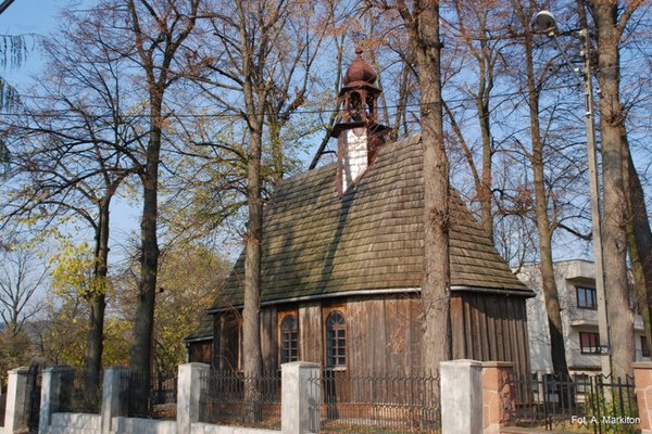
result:
[[[201,376],[208,393],[200,403],[200,421],[280,430],[280,373],[247,378],[233,370],[211,370]]]

